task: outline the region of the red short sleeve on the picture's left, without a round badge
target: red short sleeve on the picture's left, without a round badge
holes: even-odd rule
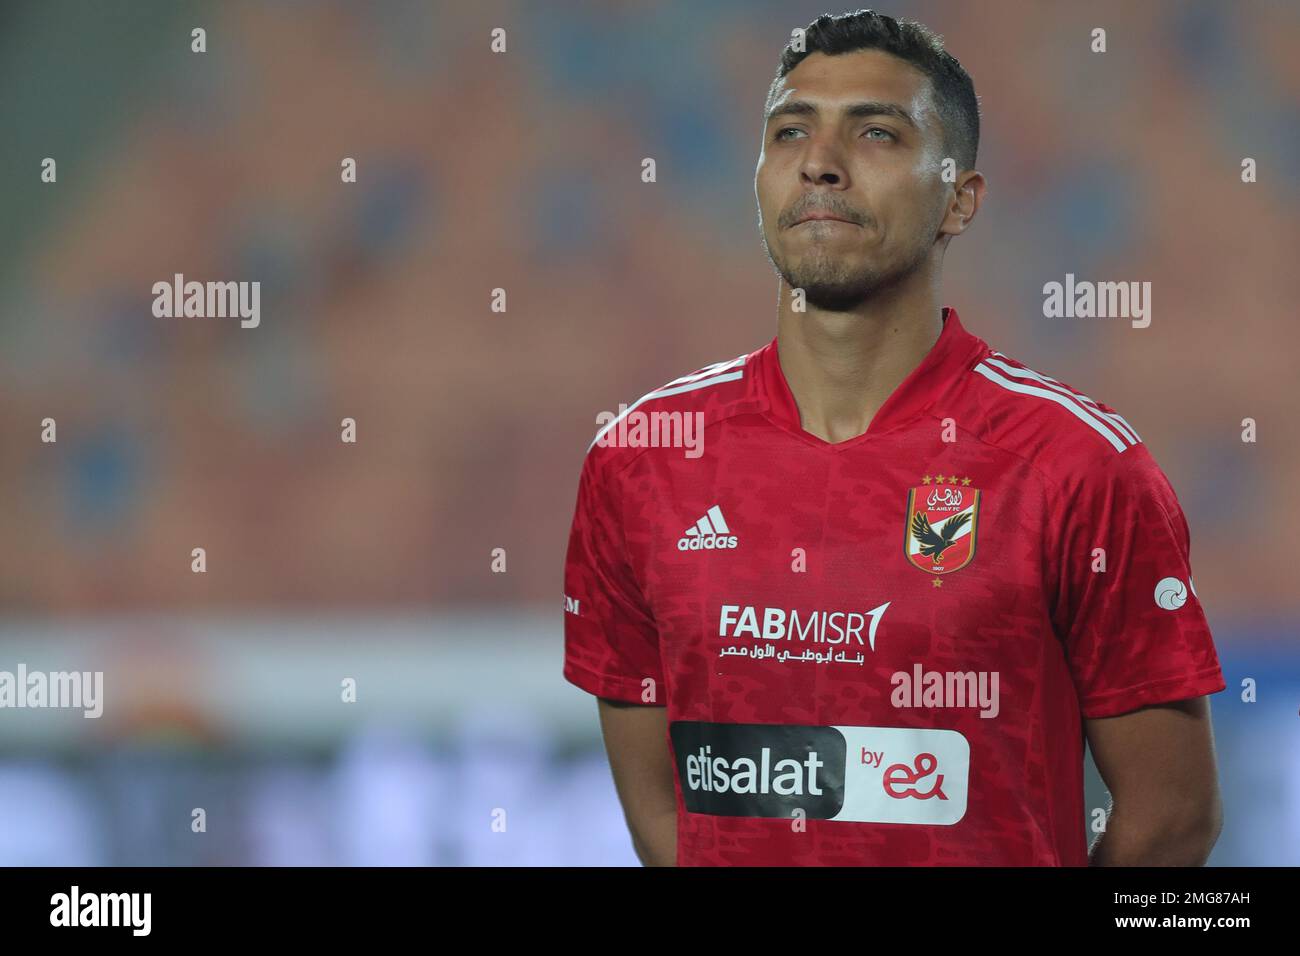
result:
[[[564,562],[564,678],[598,697],[663,705],[659,632],[628,559],[623,520],[621,496],[610,493],[588,455]]]

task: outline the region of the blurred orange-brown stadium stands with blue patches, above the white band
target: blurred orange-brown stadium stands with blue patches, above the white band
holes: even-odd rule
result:
[[[558,601],[597,414],[775,333],[759,114],[819,12],[14,5],[0,43],[46,53],[0,57],[0,606]],[[1295,8],[887,12],[982,98],[991,189],[945,304],[1134,424],[1212,620],[1294,613]],[[155,317],[174,273],[260,281],[260,326]],[[1066,273],[1152,282],[1150,328],[1045,319]]]

